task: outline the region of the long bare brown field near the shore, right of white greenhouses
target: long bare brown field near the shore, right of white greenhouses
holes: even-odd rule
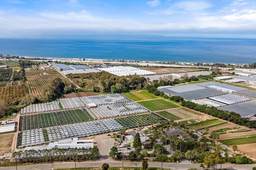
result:
[[[196,68],[156,68],[156,67],[139,67],[143,70],[148,70],[155,72],[157,74],[166,74],[166,73],[179,73],[179,72],[190,72],[197,71]]]

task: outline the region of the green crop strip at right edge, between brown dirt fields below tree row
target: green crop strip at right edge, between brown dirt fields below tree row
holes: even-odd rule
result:
[[[247,137],[241,137],[241,138],[236,138],[236,139],[226,139],[226,140],[222,140],[220,142],[225,145],[228,145],[228,146],[229,145],[242,145],[242,144],[248,144],[248,143],[255,143],[256,135],[247,135]]]

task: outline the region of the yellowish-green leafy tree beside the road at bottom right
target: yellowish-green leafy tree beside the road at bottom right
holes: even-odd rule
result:
[[[204,164],[206,164],[207,168],[212,170],[216,169],[218,164],[221,163],[221,154],[219,151],[215,151],[214,153],[208,152],[204,157]]]

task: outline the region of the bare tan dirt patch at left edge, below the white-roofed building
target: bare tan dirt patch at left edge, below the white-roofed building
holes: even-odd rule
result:
[[[0,135],[0,153],[7,153],[12,146],[13,133],[6,133]]]

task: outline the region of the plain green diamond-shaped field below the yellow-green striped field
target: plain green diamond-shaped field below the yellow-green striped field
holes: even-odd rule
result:
[[[158,110],[165,110],[165,109],[179,107],[176,104],[173,104],[163,99],[142,101],[142,102],[138,102],[138,104],[146,107],[147,109],[150,109],[151,111],[158,111]]]

